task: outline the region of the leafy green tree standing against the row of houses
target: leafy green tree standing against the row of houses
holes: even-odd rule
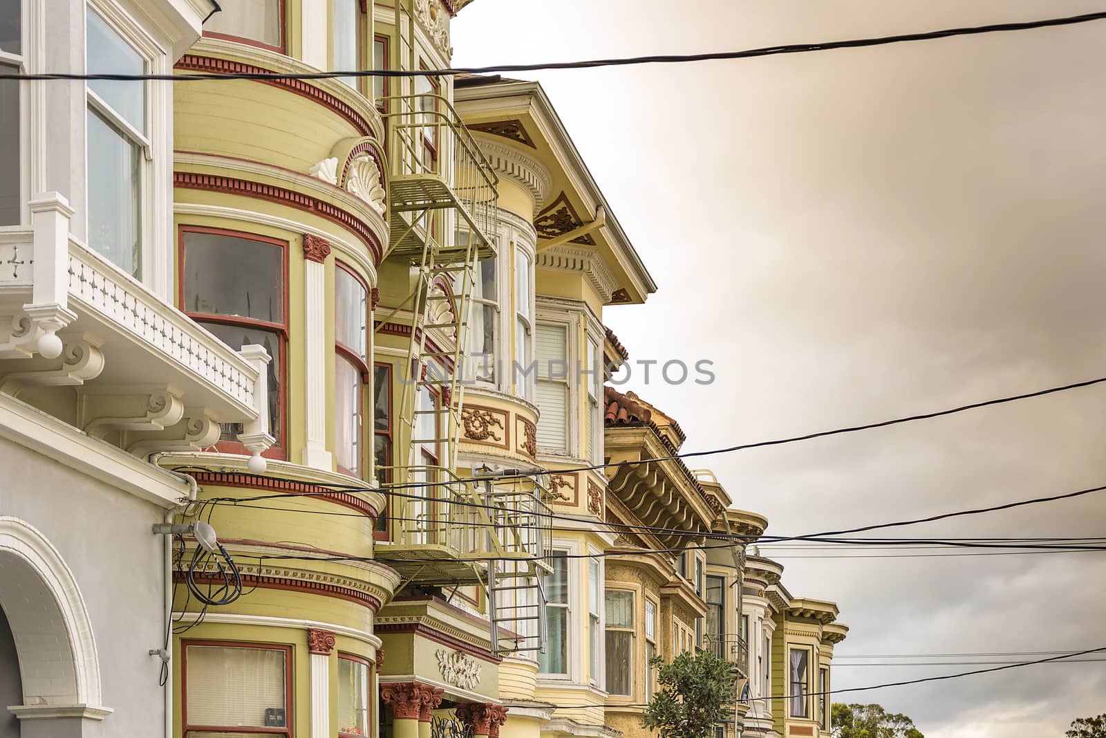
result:
[[[641,715],[643,727],[661,738],[702,738],[729,717],[737,687],[729,662],[705,651],[682,653],[671,664],[654,656],[649,666],[657,669],[658,690]]]

